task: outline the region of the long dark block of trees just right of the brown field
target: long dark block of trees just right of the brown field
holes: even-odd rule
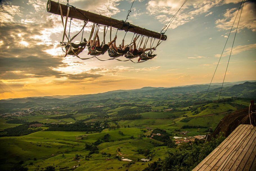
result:
[[[102,131],[101,127],[92,127],[86,123],[70,123],[70,124],[49,124],[49,128],[45,131]]]

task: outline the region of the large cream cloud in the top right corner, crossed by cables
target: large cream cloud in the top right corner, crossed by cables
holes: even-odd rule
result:
[[[244,3],[241,19],[239,22],[238,31],[245,29],[245,28],[250,29],[252,31],[256,31],[255,9],[256,9],[256,3],[252,3],[252,2]],[[233,25],[233,22],[235,20],[235,16],[237,15],[237,10],[238,10],[238,8],[227,9],[223,15],[223,19],[218,19],[215,21],[216,28],[219,28],[220,31],[221,30],[230,30]],[[238,13],[236,22],[234,24],[235,27],[237,26],[240,12],[241,12],[241,9]]]

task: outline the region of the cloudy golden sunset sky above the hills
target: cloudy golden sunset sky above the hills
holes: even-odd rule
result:
[[[57,1],[57,0],[55,0]],[[61,17],[46,11],[46,0],[0,1],[0,99],[29,96],[82,95],[118,89],[207,84],[211,81],[241,1],[188,0],[157,47],[157,56],[143,63],[80,60],[61,50]],[[76,8],[125,20],[132,0],[69,0]],[[128,21],[160,32],[184,1],[135,0]],[[66,1],[60,0],[66,4]],[[228,39],[213,82],[256,80],[256,3],[245,1],[232,55],[235,29]],[[238,16],[240,15],[240,12]],[[73,19],[70,34],[83,21]],[[88,39],[92,23],[83,36]],[[113,28],[113,33],[116,30]],[[117,44],[125,32],[118,31]],[[80,42],[81,34],[75,41]],[[103,28],[99,32],[103,39]],[[129,44],[133,33],[127,33]],[[109,39],[109,30],[106,35]],[[120,42],[120,43],[118,43]],[[89,57],[88,50],[80,57]],[[107,53],[99,56],[108,59]],[[125,60],[124,57],[119,59]],[[134,59],[136,61],[137,59]]]

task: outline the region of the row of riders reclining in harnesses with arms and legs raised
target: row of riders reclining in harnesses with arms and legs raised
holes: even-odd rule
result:
[[[146,51],[149,50],[156,50],[156,48],[138,48],[136,46],[136,38],[133,39],[133,45],[124,45],[124,40],[122,41],[122,44],[119,46],[116,46],[116,38],[117,36],[114,37],[114,39],[111,42],[108,42],[107,44],[100,44],[100,39],[98,34],[96,34],[97,40],[93,41],[87,41],[84,39],[84,42],[82,44],[86,44],[89,50],[88,55],[93,55],[93,56],[98,56],[98,55],[103,55],[105,52],[108,51],[109,57],[116,58],[120,56],[125,56],[128,59],[133,59],[136,57],[140,57],[140,60],[148,60],[156,55],[151,55],[145,53]],[[74,44],[75,45],[75,44]],[[84,46],[83,46],[84,49]],[[83,49],[79,50],[79,53],[82,52]],[[74,52],[74,51],[73,51]],[[74,52],[75,53],[75,52]],[[77,54],[77,53],[76,53]]]

